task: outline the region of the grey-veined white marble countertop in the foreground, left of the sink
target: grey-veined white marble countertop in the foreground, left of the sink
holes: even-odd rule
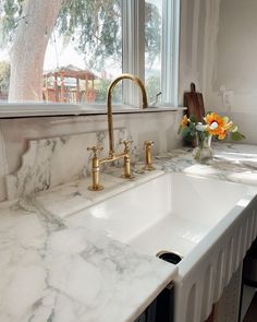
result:
[[[4,322],[133,321],[174,270],[29,200],[0,211],[0,258]]]

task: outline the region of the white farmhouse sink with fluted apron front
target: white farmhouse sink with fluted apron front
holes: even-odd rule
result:
[[[249,186],[172,172],[88,207],[66,224],[151,255],[161,250],[182,255],[175,322],[199,322],[257,235],[255,193]]]

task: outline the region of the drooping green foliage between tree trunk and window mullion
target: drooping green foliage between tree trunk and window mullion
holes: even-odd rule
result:
[[[121,0],[65,0],[57,20],[64,45],[73,41],[89,70],[101,71],[106,58],[121,61]]]

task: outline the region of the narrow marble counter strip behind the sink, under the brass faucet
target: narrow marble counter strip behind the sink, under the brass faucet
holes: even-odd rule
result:
[[[36,206],[64,219],[88,206],[163,175],[164,171],[160,168],[155,171],[136,174],[133,179],[128,180],[120,178],[121,169],[114,168],[112,172],[101,174],[101,184],[105,186],[101,191],[89,191],[88,186],[90,186],[91,179],[87,177],[76,182],[37,193],[33,195],[33,201]]]

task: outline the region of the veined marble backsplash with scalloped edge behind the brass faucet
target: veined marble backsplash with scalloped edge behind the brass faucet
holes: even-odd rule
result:
[[[123,151],[120,141],[125,139],[132,139],[125,128],[114,130],[117,152]],[[102,146],[101,156],[107,156],[109,152],[107,131],[28,140],[28,150],[22,155],[21,167],[5,177],[8,200],[85,178],[90,172],[91,163],[91,153],[87,147],[93,145]],[[135,163],[136,145],[132,145],[131,154]],[[118,163],[122,165],[122,160]]]

